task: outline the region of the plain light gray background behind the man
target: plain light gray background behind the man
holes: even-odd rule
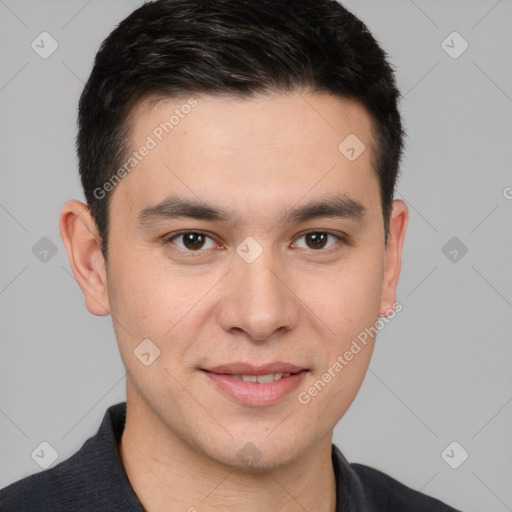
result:
[[[397,70],[408,132],[397,197],[411,218],[403,311],[379,334],[334,442],[464,511],[512,510],[512,1],[344,4]],[[85,309],[58,215],[66,199],[83,200],[83,82],[138,5],[0,0],[0,487],[41,470],[31,453],[42,441],[58,452],[53,465],[69,457],[125,399],[111,319]],[[43,31],[59,44],[47,59],[31,48]],[[453,31],[469,43],[457,59],[442,46]],[[454,236],[457,261],[442,251]],[[32,250],[43,237],[57,250],[46,262]],[[469,453],[458,469],[441,456],[453,441]],[[461,452],[448,453],[457,462]]]

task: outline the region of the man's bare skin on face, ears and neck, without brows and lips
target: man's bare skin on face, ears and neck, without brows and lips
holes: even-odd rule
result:
[[[196,99],[116,186],[107,267],[85,205],[71,200],[61,212],[86,307],[112,316],[127,370],[123,464],[148,512],[334,511],[333,429],[362,384],[375,340],[308,404],[298,394],[392,312],[407,206],[394,201],[385,246],[372,123],[358,103],[296,93]],[[133,148],[185,102],[139,104]],[[367,148],[353,162],[338,150],[351,133]],[[165,219],[141,229],[137,214],[170,193],[229,209],[237,222]],[[363,220],[276,225],[292,207],[333,194],[361,202]],[[180,230],[211,238],[202,252],[183,237],[164,241]],[[318,249],[303,236],[312,231],[344,233],[350,242],[333,237]],[[248,236],[263,249],[250,264],[236,253]],[[147,338],[161,351],[149,366],[133,353]],[[234,401],[200,371],[278,360],[309,372],[299,388],[264,407]],[[260,454],[252,465],[237,456],[249,442]]]

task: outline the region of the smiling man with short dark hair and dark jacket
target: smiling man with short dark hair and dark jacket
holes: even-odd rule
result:
[[[126,404],[9,511],[450,511],[332,444],[400,307],[386,55],[333,0],[159,0],[79,107],[60,229]]]

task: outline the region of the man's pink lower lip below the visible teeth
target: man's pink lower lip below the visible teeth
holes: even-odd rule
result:
[[[243,405],[265,406],[272,405],[293,391],[306,376],[307,370],[294,373],[289,377],[260,384],[259,382],[243,382],[231,375],[212,373],[206,370],[202,372],[220,389]]]

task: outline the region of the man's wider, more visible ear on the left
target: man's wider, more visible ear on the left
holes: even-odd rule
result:
[[[61,209],[59,230],[85,306],[93,315],[110,314],[101,237],[89,207],[80,201],[67,201]]]

